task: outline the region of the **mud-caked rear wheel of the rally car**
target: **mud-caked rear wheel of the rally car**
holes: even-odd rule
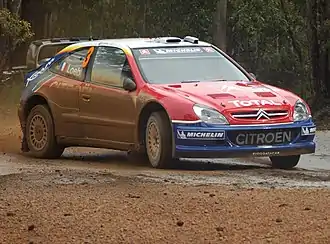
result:
[[[27,118],[26,140],[30,153],[36,158],[61,157],[64,147],[56,142],[54,122],[48,106],[36,105],[32,108]]]

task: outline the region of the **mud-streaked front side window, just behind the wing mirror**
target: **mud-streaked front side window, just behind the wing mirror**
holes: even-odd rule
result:
[[[123,87],[125,77],[133,79],[124,51],[114,47],[99,47],[92,67],[91,82]]]

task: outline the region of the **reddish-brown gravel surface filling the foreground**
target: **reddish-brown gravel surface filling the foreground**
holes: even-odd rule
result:
[[[76,176],[85,182],[63,179]],[[0,243],[330,243],[330,191],[0,178]]]

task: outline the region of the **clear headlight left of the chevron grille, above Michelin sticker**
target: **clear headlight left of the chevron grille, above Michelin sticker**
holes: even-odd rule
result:
[[[195,114],[205,123],[208,124],[228,124],[227,119],[221,113],[213,108],[196,104],[193,107]]]

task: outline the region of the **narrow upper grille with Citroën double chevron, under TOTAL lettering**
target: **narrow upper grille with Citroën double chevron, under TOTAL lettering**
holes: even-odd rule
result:
[[[246,112],[233,112],[231,116],[234,119],[244,119],[244,120],[272,120],[281,119],[288,116],[289,113],[286,110],[253,110]]]

